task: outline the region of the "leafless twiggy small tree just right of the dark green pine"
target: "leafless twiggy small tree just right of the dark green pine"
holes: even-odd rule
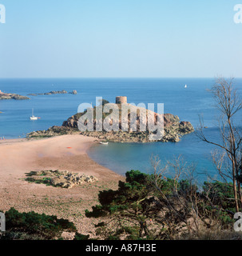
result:
[[[173,237],[176,233],[174,230],[179,226],[185,226],[189,233],[194,228],[199,230],[201,198],[194,178],[196,165],[184,162],[181,155],[168,161],[165,167],[160,166],[161,160],[157,156],[151,158],[151,162],[154,169],[153,184],[160,195],[161,205],[167,210],[163,223],[169,226],[166,232],[168,237]],[[172,178],[166,178],[166,172]]]

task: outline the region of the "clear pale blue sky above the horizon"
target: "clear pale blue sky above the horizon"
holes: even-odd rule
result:
[[[242,0],[0,3],[0,78],[242,77]]]

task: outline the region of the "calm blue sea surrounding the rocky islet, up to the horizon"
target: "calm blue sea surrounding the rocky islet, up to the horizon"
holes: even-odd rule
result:
[[[177,115],[181,121],[199,126],[204,120],[206,136],[219,141],[216,108],[210,89],[216,78],[14,78],[0,79],[0,90],[6,93],[44,94],[52,90],[77,90],[77,94],[52,94],[28,96],[30,100],[0,101],[0,137],[25,138],[36,130],[47,130],[50,126],[61,126],[77,113],[81,103],[96,104],[96,97],[115,102],[117,96],[127,96],[129,103],[164,103],[165,113]],[[185,88],[185,85],[187,87]],[[242,94],[242,78],[235,80],[238,94]],[[30,121],[34,109],[37,121]],[[237,118],[240,120],[240,117]],[[212,151],[216,150],[201,142],[195,133],[187,134],[181,142],[112,143],[97,144],[89,149],[89,157],[101,166],[125,175],[129,170],[153,173],[151,159],[160,159],[161,170],[167,162],[180,158],[186,166],[195,169],[194,177],[204,181],[217,178],[212,163]],[[194,167],[195,166],[195,167]],[[78,169],[78,166],[77,166]],[[190,167],[188,167],[190,170]],[[167,176],[172,175],[168,170]]]

